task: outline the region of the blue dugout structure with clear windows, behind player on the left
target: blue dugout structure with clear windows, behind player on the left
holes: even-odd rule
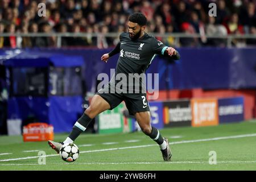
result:
[[[8,119],[24,121],[32,115],[39,122],[53,125],[56,133],[70,131],[83,111],[83,58],[25,51],[7,59],[5,65],[10,79]],[[71,85],[72,81],[76,84]]]

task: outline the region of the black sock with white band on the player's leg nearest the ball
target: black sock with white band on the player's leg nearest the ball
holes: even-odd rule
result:
[[[86,127],[88,127],[90,121],[92,121],[92,119],[89,118],[88,115],[85,113],[82,114],[81,118],[79,118],[73,126],[73,129],[68,137],[74,141],[83,131],[86,130]]]

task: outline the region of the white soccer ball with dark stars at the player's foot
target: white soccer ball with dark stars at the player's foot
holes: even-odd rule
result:
[[[74,162],[79,157],[79,148],[75,143],[66,143],[60,148],[60,157],[65,162]]]

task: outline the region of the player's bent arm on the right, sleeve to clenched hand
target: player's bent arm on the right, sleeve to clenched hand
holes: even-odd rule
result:
[[[158,55],[163,55],[164,57],[168,57],[171,60],[179,60],[180,54],[173,47],[167,47],[162,42],[157,39],[153,39],[151,42],[152,51]]]

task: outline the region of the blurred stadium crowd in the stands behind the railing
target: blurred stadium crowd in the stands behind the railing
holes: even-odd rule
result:
[[[46,16],[38,16],[38,4],[46,4]],[[209,16],[209,3],[217,5],[217,16]],[[205,35],[256,34],[256,0],[0,0],[2,32],[87,32],[88,36],[62,37],[61,46],[108,48],[118,43],[119,32],[126,31],[131,13],[147,16],[147,32],[183,32],[200,38],[157,37],[167,46],[226,46],[226,39]],[[106,37],[117,32],[116,38]],[[97,37],[90,34],[97,33]],[[0,36],[1,47],[56,47],[56,37]],[[256,45],[256,39],[233,39],[233,46]]]

